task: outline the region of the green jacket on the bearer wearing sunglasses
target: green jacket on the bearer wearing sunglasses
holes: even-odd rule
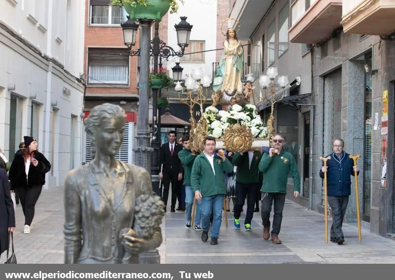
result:
[[[300,176],[298,166],[292,154],[281,150],[279,155],[270,157],[265,153],[258,167],[263,172],[263,184],[261,192],[286,193],[288,174],[293,178],[293,190],[300,192]]]

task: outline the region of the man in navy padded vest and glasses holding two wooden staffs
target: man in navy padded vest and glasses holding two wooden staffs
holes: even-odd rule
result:
[[[330,241],[342,245],[344,234],[342,231],[343,218],[346,213],[349,195],[351,194],[351,176],[359,173],[358,166],[350,155],[343,151],[344,141],[333,140],[333,153],[330,160],[326,161],[326,167],[322,167],[319,176],[324,177],[327,172],[327,196],[329,206],[332,209],[332,227],[330,228]]]

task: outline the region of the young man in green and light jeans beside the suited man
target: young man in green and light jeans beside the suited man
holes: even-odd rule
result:
[[[186,228],[191,228],[191,214],[192,214],[192,205],[194,202],[194,191],[191,187],[191,173],[192,167],[194,166],[194,162],[196,159],[196,155],[194,155],[189,147],[190,136],[186,134],[182,137],[182,145],[184,146],[183,150],[178,153],[178,157],[181,160],[181,164],[184,168],[184,187],[185,187],[185,204],[186,204],[186,217],[187,221],[185,223]],[[200,217],[201,217],[201,201],[196,201],[196,215],[194,221],[194,229],[197,231],[201,231],[200,227]]]

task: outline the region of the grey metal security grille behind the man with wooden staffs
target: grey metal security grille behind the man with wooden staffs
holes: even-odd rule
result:
[[[332,152],[332,140],[341,138],[342,125],[342,69],[324,76],[324,155]],[[322,204],[324,190],[322,186]]]

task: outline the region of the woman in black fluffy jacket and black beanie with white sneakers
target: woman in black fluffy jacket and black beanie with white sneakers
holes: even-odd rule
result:
[[[51,170],[48,160],[37,150],[37,141],[24,136],[26,149],[17,152],[8,173],[11,188],[16,191],[25,215],[23,233],[29,234],[34,217],[35,206],[39,199],[45,173]]]

